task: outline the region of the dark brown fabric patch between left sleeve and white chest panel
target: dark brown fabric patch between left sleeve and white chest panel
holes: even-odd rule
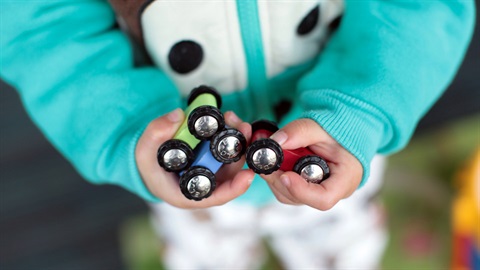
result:
[[[119,23],[138,44],[143,45],[140,16],[142,11],[155,0],[109,0],[115,10]]]

